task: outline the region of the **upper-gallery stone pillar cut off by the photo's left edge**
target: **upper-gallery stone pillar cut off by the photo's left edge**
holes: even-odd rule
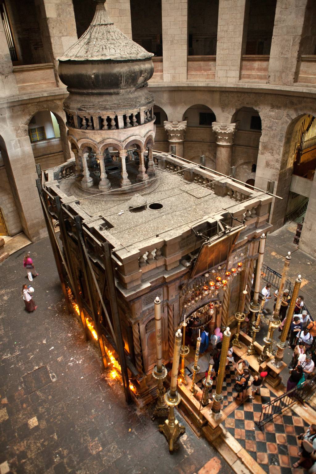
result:
[[[0,21],[0,58],[0,97],[18,95],[17,81],[13,74],[13,65],[2,21]]]

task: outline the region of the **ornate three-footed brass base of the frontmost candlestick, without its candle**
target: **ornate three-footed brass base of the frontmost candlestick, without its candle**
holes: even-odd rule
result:
[[[177,441],[185,433],[185,427],[182,426],[177,419],[174,417],[174,407],[179,405],[181,398],[178,392],[174,396],[171,395],[170,389],[164,396],[166,404],[170,407],[168,419],[166,419],[163,425],[159,425],[158,429],[163,433],[169,444],[169,452],[172,454],[177,448]]]

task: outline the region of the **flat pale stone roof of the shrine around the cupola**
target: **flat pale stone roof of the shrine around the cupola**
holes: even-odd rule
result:
[[[188,222],[196,223],[199,219],[236,206],[236,202],[228,196],[217,196],[210,188],[189,183],[177,173],[157,169],[157,176],[158,186],[153,191],[139,192],[147,201],[146,208],[139,211],[128,210],[132,196],[111,198],[111,193],[107,193],[82,199],[82,192],[76,192],[74,179],[61,181],[60,190],[78,197],[81,209],[91,216],[91,220],[106,219],[113,226],[108,232],[123,246],[155,237]],[[222,179],[225,181],[226,177]],[[163,207],[150,209],[151,203],[160,203]]]

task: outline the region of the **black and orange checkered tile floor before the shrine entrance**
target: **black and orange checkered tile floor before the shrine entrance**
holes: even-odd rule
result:
[[[225,420],[225,427],[268,474],[292,474],[292,466],[298,461],[297,435],[307,428],[301,418],[288,409],[263,426],[263,432],[256,426],[262,404],[275,395],[262,387],[261,395],[248,399]],[[304,473],[295,469],[296,474]]]

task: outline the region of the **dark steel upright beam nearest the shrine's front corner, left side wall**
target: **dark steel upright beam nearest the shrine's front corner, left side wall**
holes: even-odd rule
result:
[[[117,335],[117,349],[118,349],[118,357],[120,360],[121,370],[122,370],[122,379],[125,391],[125,398],[127,403],[132,401],[131,392],[129,389],[129,380],[128,380],[128,373],[127,373],[127,365],[126,365],[126,357],[124,351],[124,342],[122,337],[122,329],[121,329],[121,321],[119,319],[118,314],[118,307],[117,307],[117,292],[116,286],[114,281],[114,274],[113,274],[113,267],[112,267],[112,259],[111,259],[111,252],[110,246],[108,242],[104,242],[102,244],[103,252],[104,252],[104,262],[105,262],[105,270],[108,279],[108,295],[110,300],[110,306],[112,311],[112,318],[115,327],[115,332]]]

